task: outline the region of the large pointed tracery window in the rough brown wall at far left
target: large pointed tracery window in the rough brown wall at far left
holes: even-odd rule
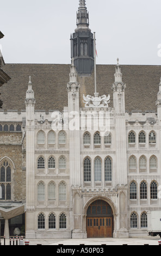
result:
[[[2,200],[11,200],[11,166],[8,160],[4,160],[0,167],[0,186]]]

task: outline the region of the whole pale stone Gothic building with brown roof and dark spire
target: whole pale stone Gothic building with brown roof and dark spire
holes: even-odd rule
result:
[[[160,66],[97,65],[95,87],[94,70],[82,74],[79,65],[92,62],[85,1],[77,19],[73,49],[77,33],[79,41],[87,29],[90,39],[72,49],[71,65],[5,66],[12,78],[0,111],[2,178],[11,170],[10,181],[0,177],[5,234],[9,217],[25,212],[28,239],[146,236],[147,212],[161,210]]]

